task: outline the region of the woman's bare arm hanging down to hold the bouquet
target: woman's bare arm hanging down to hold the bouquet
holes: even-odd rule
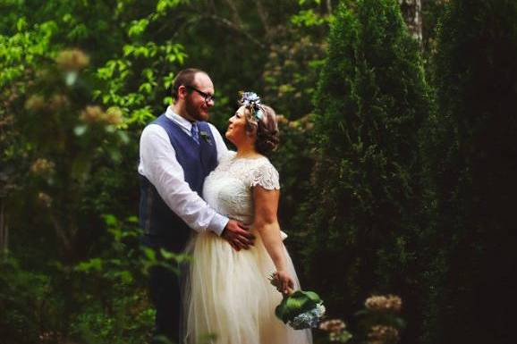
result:
[[[280,191],[267,190],[259,185],[253,188],[253,203],[255,206],[255,220],[253,228],[259,231],[267,253],[273,260],[282,291],[288,293],[294,288],[292,277],[287,272],[287,263],[284,254],[284,244],[280,235],[280,225],[276,217]]]

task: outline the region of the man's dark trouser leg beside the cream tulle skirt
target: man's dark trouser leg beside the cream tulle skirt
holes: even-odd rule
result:
[[[157,310],[153,344],[180,343],[181,289],[179,276],[162,266],[150,270],[150,297]]]

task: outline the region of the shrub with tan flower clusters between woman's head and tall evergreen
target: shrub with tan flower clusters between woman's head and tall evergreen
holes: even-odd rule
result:
[[[309,189],[312,166],[308,140],[313,127],[311,99],[324,62],[325,38],[332,18],[330,13],[322,13],[314,4],[303,5],[298,13],[290,16],[288,25],[275,29],[275,43],[261,76],[264,101],[279,115],[281,142],[272,161],[281,177],[281,224],[290,236],[288,245],[295,261],[301,260],[299,252],[307,235],[297,222],[297,215],[301,199],[306,197]],[[317,16],[318,25],[298,21],[307,12]]]

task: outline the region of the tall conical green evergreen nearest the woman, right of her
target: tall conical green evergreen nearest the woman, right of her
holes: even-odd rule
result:
[[[312,194],[302,216],[311,287],[334,315],[351,315],[372,292],[401,293],[414,314],[419,130],[429,100],[418,43],[395,0],[338,9],[315,106]]]

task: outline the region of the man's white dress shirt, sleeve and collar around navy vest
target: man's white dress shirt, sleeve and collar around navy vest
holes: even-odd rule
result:
[[[191,122],[167,107],[165,116],[191,136]],[[216,127],[208,123],[216,141],[217,162],[228,148]],[[158,194],[175,214],[195,231],[214,231],[221,235],[229,219],[217,214],[185,181],[183,168],[164,128],[149,124],[140,137],[139,173],[155,186]]]

